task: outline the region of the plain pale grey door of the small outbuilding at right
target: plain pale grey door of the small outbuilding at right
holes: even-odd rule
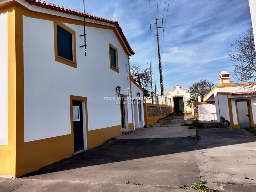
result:
[[[238,119],[240,124],[240,129],[244,129],[245,127],[250,127],[250,114],[248,110],[248,101],[237,101],[237,111],[238,111]]]

